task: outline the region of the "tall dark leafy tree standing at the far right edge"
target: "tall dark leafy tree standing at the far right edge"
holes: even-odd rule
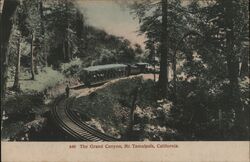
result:
[[[217,86],[229,82],[228,90],[223,92],[228,100],[227,111],[232,111],[235,123],[241,125],[240,61],[243,51],[249,48],[249,4],[247,0],[206,2],[200,6],[196,22],[206,42],[202,47],[197,46],[203,65],[207,66],[203,76]]]

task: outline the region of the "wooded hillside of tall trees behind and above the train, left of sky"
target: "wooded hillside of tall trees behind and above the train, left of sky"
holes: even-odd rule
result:
[[[12,26],[4,26],[10,30],[6,59],[8,69],[12,69],[8,77],[15,78],[14,89],[18,90],[18,76],[23,68],[29,68],[30,78],[34,80],[39,69],[51,66],[59,70],[63,63],[76,59],[81,60],[78,66],[86,67],[131,63],[142,57],[140,45],[86,24],[72,0],[16,3],[10,16]]]

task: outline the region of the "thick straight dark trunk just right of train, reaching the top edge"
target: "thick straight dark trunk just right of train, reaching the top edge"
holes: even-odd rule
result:
[[[168,90],[168,30],[167,0],[162,0],[161,61],[159,75],[159,97],[166,98]]]

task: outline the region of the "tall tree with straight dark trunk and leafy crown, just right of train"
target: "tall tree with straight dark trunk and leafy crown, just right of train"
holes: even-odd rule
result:
[[[165,98],[170,80],[169,66],[174,60],[172,57],[175,57],[176,48],[182,48],[176,44],[184,33],[193,30],[189,21],[192,15],[181,0],[135,2],[132,9],[139,18],[140,32],[154,42],[160,55],[159,95]]]

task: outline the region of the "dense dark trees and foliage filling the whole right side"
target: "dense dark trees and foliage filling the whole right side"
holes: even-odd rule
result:
[[[247,139],[248,2],[145,0],[131,8],[150,59],[158,54],[173,71],[159,80],[174,102],[170,126],[189,139]]]

